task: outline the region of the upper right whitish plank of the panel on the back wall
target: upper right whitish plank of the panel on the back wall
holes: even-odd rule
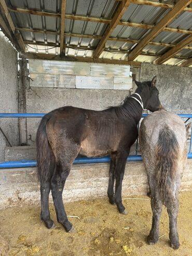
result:
[[[91,76],[129,77],[129,65],[91,63]]]

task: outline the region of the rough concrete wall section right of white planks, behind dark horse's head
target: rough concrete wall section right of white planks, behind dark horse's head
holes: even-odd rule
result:
[[[157,75],[162,105],[177,114],[192,114],[192,68],[171,65],[141,65],[140,80]]]

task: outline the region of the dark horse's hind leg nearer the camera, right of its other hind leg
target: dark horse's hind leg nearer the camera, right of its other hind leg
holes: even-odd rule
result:
[[[56,171],[51,179],[51,193],[54,207],[56,209],[57,220],[64,226],[66,232],[74,231],[73,225],[67,219],[62,199],[63,188],[70,170],[71,166],[67,167],[64,164],[61,164],[60,166],[57,166]]]

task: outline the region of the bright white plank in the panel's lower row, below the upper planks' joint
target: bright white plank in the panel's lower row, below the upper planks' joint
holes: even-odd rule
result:
[[[76,88],[113,89],[113,77],[76,76]]]

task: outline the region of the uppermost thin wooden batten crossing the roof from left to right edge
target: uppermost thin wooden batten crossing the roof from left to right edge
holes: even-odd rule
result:
[[[58,15],[58,14],[53,14],[52,12],[45,12],[45,11],[43,12],[43,11],[32,10],[32,12],[31,12],[31,10],[19,9],[19,8],[9,8],[9,10],[23,12],[26,14],[35,14],[35,15],[40,15],[40,16],[61,17],[60,14]],[[90,21],[90,22],[98,22],[98,23],[105,23],[105,24],[110,24],[112,21],[111,19],[100,19],[100,18],[95,18],[95,17],[85,17],[85,16],[78,16],[78,15],[70,15],[70,14],[65,14],[65,19]],[[133,28],[141,28],[141,29],[153,29],[155,26],[155,25],[148,25],[148,24],[128,22],[128,21],[119,21],[118,25],[131,26]],[[163,31],[173,32],[173,33],[192,34],[191,30],[174,29],[174,28],[168,28],[167,26],[165,28],[163,28]],[[56,33],[56,32],[52,32],[52,33]]]

